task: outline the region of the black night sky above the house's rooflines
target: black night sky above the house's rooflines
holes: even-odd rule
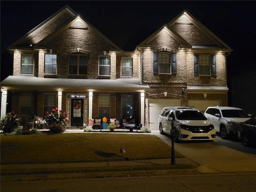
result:
[[[0,1],[1,81],[12,74],[6,48],[65,5],[114,44],[133,51],[184,10],[233,49],[228,78],[256,67],[255,1]]]

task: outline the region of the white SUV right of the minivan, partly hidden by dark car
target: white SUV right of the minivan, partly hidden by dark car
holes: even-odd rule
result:
[[[237,135],[238,124],[250,119],[251,114],[236,107],[208,107],[204,115],[210,119],[216,132],[220,133],[222,139],[227,139],[230,135]]]

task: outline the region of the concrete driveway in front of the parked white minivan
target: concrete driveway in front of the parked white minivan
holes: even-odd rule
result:
[[[152,130],[152,134],[171,146],[171,138]],[[241,144],[242,145],[242,144]],[[215,142],[175,143],[174,149],[189,160],[200,164],[201,172],[256,172],[256,155],[240,152]]]

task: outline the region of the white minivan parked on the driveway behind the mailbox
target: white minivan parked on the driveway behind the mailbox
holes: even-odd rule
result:
[[[179,140],[208,140],[216,138],[214,126],[199,110],[191,107],[164,107],[158,118],[160,134],[171,132],[171,121],[178,130],[178,136],[174,136],[174,141]]]

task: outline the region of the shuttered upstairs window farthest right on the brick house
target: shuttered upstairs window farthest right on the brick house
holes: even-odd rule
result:
[[[216,57],[210,55],[194,55],[194,74],[216,76]]]

